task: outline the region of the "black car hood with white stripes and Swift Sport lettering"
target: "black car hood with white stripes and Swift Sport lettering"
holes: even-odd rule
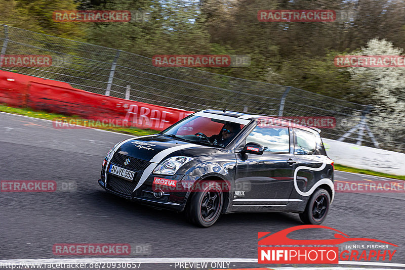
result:
[[[119,154],[156,163],[170,156],[196,157],[218,151],[213,147],[196,145],[157,135],[132,138],[118,144],[117,147],[114,150]]]

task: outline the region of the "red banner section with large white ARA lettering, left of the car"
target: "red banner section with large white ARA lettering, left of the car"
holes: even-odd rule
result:
[[[54,119],[55,128],[138,127],[163,130],[190,111],[31,82],[27,106],[83,118]],[[85,119],[86,118],[86,119]]]

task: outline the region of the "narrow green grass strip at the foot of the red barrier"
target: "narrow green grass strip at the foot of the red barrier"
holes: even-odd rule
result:
[[[48,113],[44,111],[34,111],[30,108],[14,108],[10,107],[7,105],[0,105],[0,111],[1,112],[7,112],[7,113],[13,113],[13,114],[19,114],[19,115],[25,115],[25,116],[30,116],[34,118],[41,118],[41,119],[48,119],[48,120],[82,120],[86,119],[83,117],[79,117],[77,115],[63,115],[63,114],[57,114],[57,113]],[[103,129],[103,130],[109,130],[109,131],[115,131],[115,132],[120,132],[120,133],[126,133],[126,134],[131,134],[134,136],[143,136],[143,135],[149,135],[149,134],[154,134],[159,131],[153,130],[153,129],[139,129],[135,127],[120,127],[120,126],[92,126],[94,128],[98,129]]]

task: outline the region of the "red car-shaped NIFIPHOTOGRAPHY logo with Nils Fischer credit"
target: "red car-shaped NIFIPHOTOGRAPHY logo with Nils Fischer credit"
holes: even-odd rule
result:
[[[287,237],[290,233],[305,229],[319,229],[323,231],[327,229],[336,233],[333,239],[301,240]],[[389,246],[397,247],[395,244],[378,239],[351,238],[336,229],[320,225],[296,226],[274,234],[259,232],[258,239],[260,239],[258,242],[259,263],[335,264],[339,263],[339,260],[391,261],[396,250],[389,250],[388,248]],[[355,241],[356,243],[368,242],[368,244],[346,244],[343,250],[339,251],[338,245],[351,241]]]

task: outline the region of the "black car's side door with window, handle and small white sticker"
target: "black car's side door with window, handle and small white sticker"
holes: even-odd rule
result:
[[[234,206],[287,205],[297,159],[292,155],[291,128],[259,123],[236,149]],[[262,155],[240,153],[246,143],[264,147]]]

